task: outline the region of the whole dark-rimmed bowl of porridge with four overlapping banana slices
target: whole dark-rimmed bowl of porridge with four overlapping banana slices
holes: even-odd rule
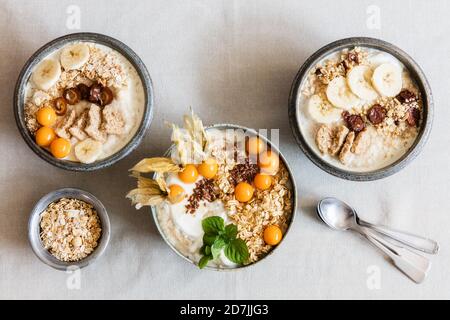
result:
[[[356,181],[392,175],[423,148],[433,119],[428,81],[404,51],[348,38],[314,53],[289,98],[294,136],[306,156]]]

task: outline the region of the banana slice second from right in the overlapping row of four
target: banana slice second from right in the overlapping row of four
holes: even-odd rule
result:
[[[350,90],[363,100],[372,101],[378,97],[371,82],[372,69],[368,66],[355,66],[347,74]]]

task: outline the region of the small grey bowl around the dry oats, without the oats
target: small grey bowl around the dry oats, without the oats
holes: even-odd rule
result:
[[[100,239],[98,240],[98,245],[90,255],[80,261],[60,261],[56,259],[48,250],[46,250],[41,242],[41,213],[48,207],[50,203],[61,198],[79,199],[91,204],[97,211],[98,217],[100,218],[102,232]],[[42,262],[55,269],[66,271],[71,267],[86,267],[89,264],[92,264],[96,259],[98,259],[103,254],[103,252],[105,252],[105,249],[108,246],[110,230],[111,226],[108,213],[106,212],[106,209],[100,202],[100,200],[98,200],[94,195],[87,191],[75,188],[64,188],[50,192],[49,194],[43,196],[36,203],[33,210],[31,211],[30,219],[28,221],[28,240],[30,242],[31,248],[33,249],[33,252]]]

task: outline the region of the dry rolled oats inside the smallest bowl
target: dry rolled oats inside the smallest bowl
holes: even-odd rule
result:
[[[82,200],[62,198],[41,213],[41,241],[61,261],[79,261],[98,245],[102,228],[94,207]]]

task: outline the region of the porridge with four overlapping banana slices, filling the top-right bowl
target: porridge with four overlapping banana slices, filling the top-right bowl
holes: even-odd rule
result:
[[[422,119],[421,95],[405,66],[386,52],[361,47],[314,66],[297,108],[311,149],[336,167],[358,172],[401,158]]]

